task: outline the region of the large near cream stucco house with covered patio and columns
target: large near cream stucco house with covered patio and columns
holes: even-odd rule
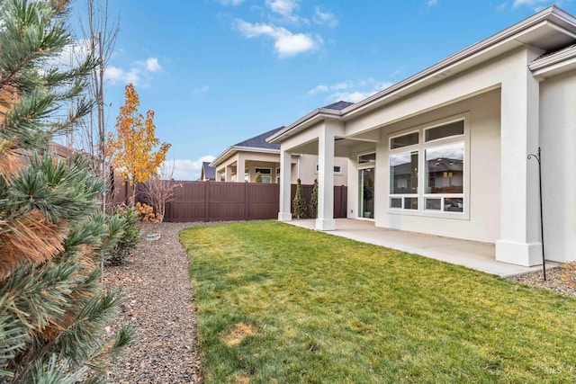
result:
[[[351,219],[495,244],[496,260],[576,259],[576,18],[552,6],[340,111],[268,138],[280,166],[319,156],[316,228],[335,228],[332,169],[348,161]],[[289,174],[278,219],[291,220]],[[366,193],[365,191],[368,191]],[[372,197],[374,201],[367,201]],[[366,215],[366,211],[370,212]]]

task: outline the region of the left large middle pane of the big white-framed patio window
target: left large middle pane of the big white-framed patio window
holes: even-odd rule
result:
[[[390,156],[390,192],[418,193],[418,151]]]

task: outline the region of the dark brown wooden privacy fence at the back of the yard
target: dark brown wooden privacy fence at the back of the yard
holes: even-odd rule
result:
[[[174,200],[166,204],[165,221],[231,221],[277,219],[280,185],[266,183],[175,182]],[[292,198],[296,185],[292,185]],[[312,186],[302,185],[307,202]],[[334,187],[334,218],[346,218],[347,187]]]

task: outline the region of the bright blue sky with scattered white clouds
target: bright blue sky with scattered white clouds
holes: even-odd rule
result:
[[[111,0],[109,129],[133,83],[175,178],[312,110],[357,102],[554,4],[539,0]],[[576,14],[572,0],[555,2]],[[85,7],[76,0],[76,12]],[[74,22],[73,22],[74,23]]]

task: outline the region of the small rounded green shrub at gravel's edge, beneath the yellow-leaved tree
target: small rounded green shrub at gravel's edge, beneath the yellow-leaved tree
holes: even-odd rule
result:
[[[112,246],[103,255],[104,265],[121,265],[139,243],[137,228],[139,212],[132,207],[120,207],[107,219]]]

